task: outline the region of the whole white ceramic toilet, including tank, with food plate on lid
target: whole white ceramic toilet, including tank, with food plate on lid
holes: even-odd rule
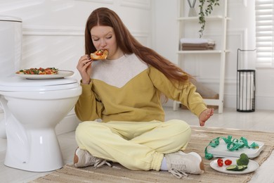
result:
[[[6,137],[4,165],[32,172],[62,168],[55,132],[72,110],[81,87],[72,77],[30,80],[18,77],[22,20],[0,15],[0,137]],[[4,128],[4,130],[3,130]]]

